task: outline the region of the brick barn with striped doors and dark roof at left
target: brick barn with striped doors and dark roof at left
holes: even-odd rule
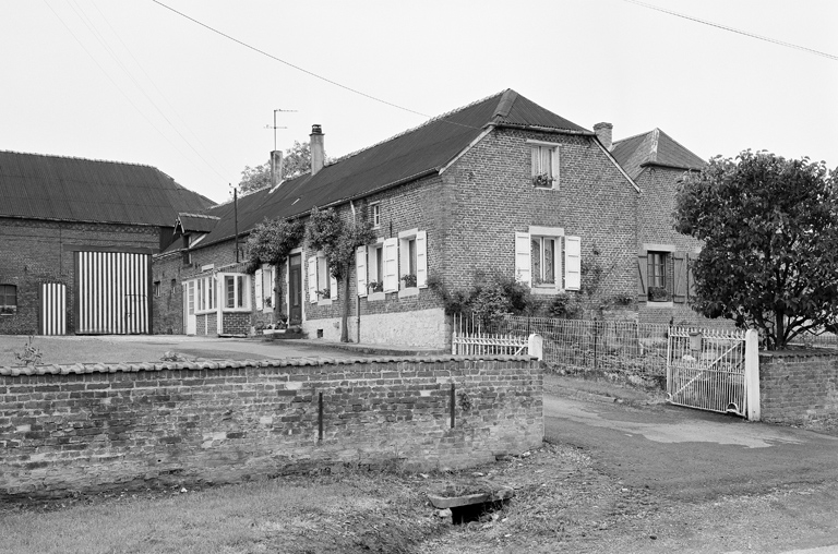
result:
[[[156,168],[0,152],[0,334],[151,330],[151,256],[213,202]]]

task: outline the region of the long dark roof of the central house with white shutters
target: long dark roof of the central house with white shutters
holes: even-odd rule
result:
[[[321,169],[239,198],[239,233],[265,218],[288,218],[312,207],[348,202],[399,183],[438,172],[463,152],[489,124],[529,127],[590,134],[579,125],[506,89],[451,111],[392,138],[356,152]],[[197,248],[235,236],[232,203],[206,214],[220,218]]]

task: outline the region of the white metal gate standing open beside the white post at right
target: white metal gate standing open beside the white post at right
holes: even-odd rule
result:
[[[745,332],[670,327],[667,401],[745,417]]]

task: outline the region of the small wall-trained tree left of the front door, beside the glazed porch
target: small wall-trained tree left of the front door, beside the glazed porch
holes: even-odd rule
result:
[[[255,272],[261,264],[278,266],[291,250],[300,245],[303,229],[300,219],[265,219],[259,224],[248,236],[247,252],[251,268]],[[278,322],[282,315],[278,301],[282,296],[282,279],[278,270],[274,272],[274,290],[277,298],[274,303],[274,322]]]

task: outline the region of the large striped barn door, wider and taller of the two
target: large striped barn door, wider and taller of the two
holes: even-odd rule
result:
[[[76,252],[75,333],[148,333],[151,270],[149,254]]]

